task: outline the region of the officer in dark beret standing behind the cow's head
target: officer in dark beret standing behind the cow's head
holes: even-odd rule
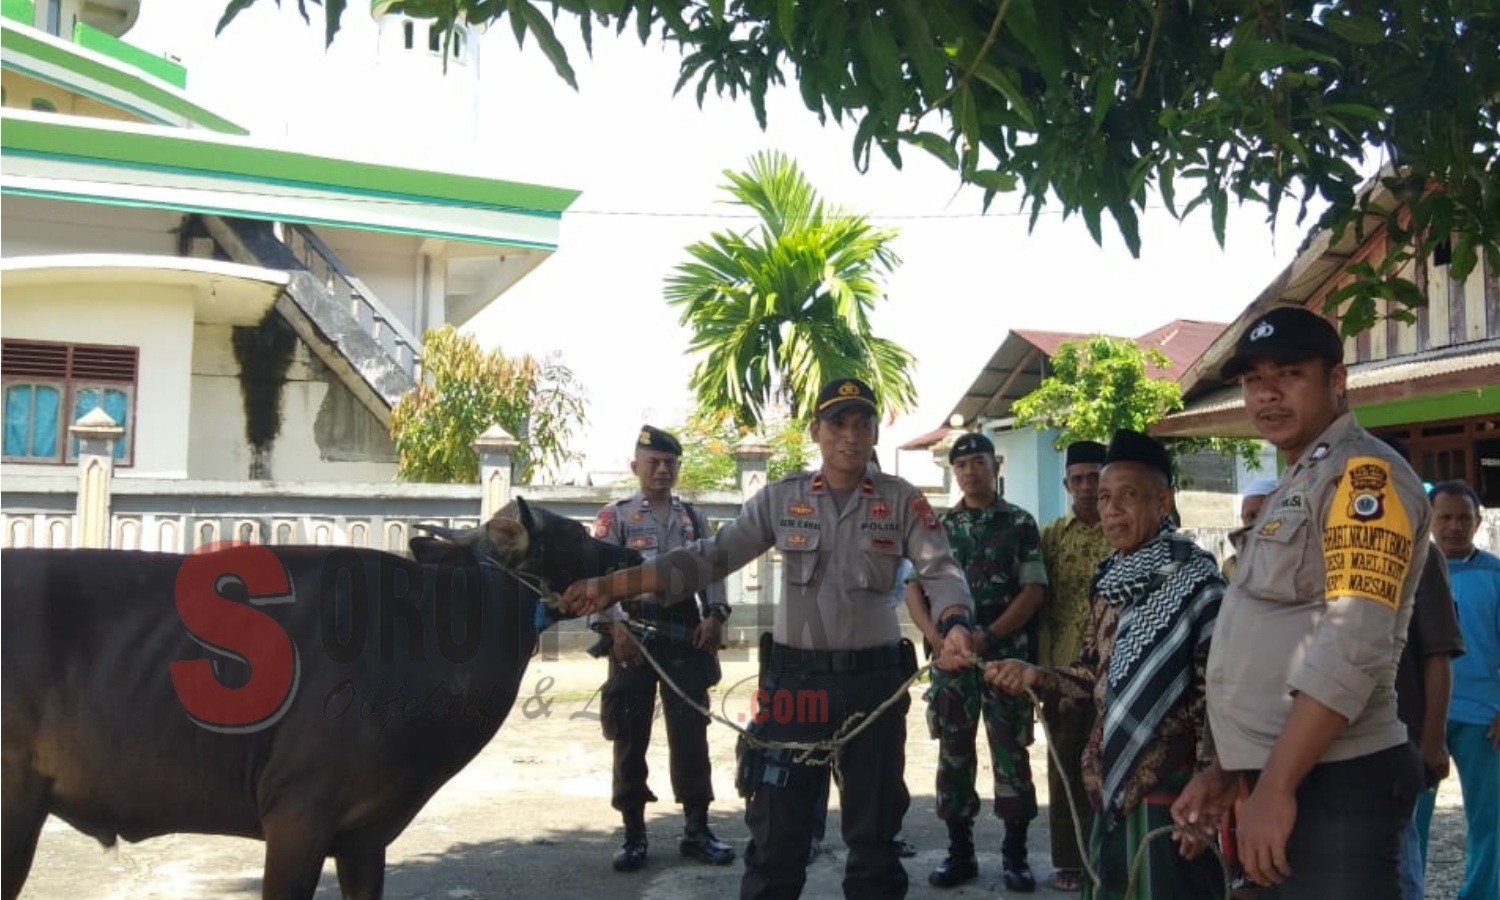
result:
[[[681,465],[682,446],[670,434],[650,424],[636,436],[630,471],[640,483],[627,500],[614,502],[594,519],[594,537],[640,550],[652,560],[708,534],[704,518],[692,504],[672,494]],[[600,698],[600,724],[615,742],[612,806],[626,820],[626,842],[615,854],[616,872],[634,872],[646,864],[645,806],[656,801],[646,786],[646,747],[656,720],[658,676],[640,658],[626,632],[627,614],[650,624],[651,654],[678,687],[708,705],[708,688],[718,682],[720,628],[729,618],[724,585],[714,580],[696,597],[663,606],[656,597],[628,600],[592,616],[596,630],[609,634],[609,680]],[[708,828],[708,804],[714,786],[708,765],[708,720],[682,702],[666,684],[660,686],[670,748],[672,792],[682,804],[686,828],[678,849],[712,866],[735,858],[734,849]]]

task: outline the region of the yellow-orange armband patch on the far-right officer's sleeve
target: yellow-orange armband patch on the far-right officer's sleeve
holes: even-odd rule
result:
[[[1323,528],[1324,597],[1364,597],[1395,609],[1412,567],[1412,519],[1374,456],[1348,460]]]

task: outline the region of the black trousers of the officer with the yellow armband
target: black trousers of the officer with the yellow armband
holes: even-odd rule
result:
[[[1422,762],[1407,742],[1312,766],[1287,840],[1292,878],[1256,900],[1401,900],[1401,832],[1420,792]]]

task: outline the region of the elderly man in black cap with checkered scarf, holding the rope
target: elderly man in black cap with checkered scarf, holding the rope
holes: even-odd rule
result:
[[[986,669],[990,684],[1030,688],[1044,706],[1095,705],[1083,780],[1095,808],[1089,856],[1100,882],[1086,882],[1084,897],[1222,897],[1218,861],[1190,838],[1179,838],[1180,848],[1155,842],[1130,885],[1144,836],[1172,824],[1172,801],[1209,756],[1203,674],[1224,579],[1214,556],[1173,526],[1172,500],[1162,446],[1116,432],[1100,477],[1100,518],[1114,552],[1094,576],[1078,660],[1054,669],[1004,660]]]

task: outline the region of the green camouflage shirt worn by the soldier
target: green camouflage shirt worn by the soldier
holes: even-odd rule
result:
[[[952,558],[963,567],[974,597],[974,621],[987,628],[1026,585],[1047,585],[1036,519],[999,496],[982,510],[963,502],[942,514]],[[1035,620],[1016,628],[986,654],[987,658],[1035,662]]]

